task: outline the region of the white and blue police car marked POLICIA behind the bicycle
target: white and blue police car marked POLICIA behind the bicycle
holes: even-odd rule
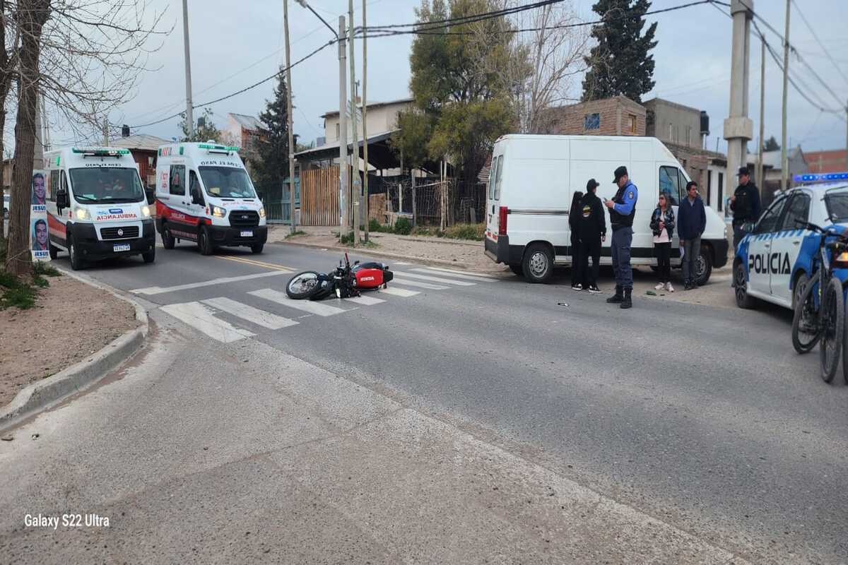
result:
[[[734,291],[741,308],[754,307],[756,298],[787,308],[795,306],[796,294],[811,274],[820,237],[799,228],[799,221],[848,227],[848,173],[804,174],[795,180],[827,184],[785,191],[775,197],[756,224],[745,225],[747,235],[734,257]]]

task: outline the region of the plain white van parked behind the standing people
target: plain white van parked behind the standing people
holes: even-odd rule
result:
[[[568,211],[575,191],[586,191],[589,179],[600,186],[598,197],[616,194],[613,171],[624,165],[639,188],[633,221],[633,265],[656,266],[650,216],[660,191],[677,205],[686,197],[689,176],[656,137],[510,135],[494,144],[486,205],[485,252],[529,282],[543,283],[555,265],[572,262]],[[609,215],[601,263],[611,264]],[[710,278],[712,268],[728,262],[725,224],[706,207],[697,277]],[[680,264],[677,230],[672,264]]]

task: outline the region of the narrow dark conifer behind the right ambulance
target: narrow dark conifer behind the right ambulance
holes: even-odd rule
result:
[[[265,112],[259,120],[265,125],[265,141],[259,143],[259,158],[256,168],[256,184],[263,193],[282,187],[288,176],[288,112],[286,75],[280,73],[274,95],[265,104]],[[297,142],[295,142],[297,147]]]

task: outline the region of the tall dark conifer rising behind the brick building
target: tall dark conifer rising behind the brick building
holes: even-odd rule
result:
[[[642,35],[644,13],[650,0],[598,0],[592,7],[602,24],[592,27],[598,42],[585,58],[589,72],[583,78],[583,102],[623,94],[635,102],[654,87],[654,34],[656,22]]]

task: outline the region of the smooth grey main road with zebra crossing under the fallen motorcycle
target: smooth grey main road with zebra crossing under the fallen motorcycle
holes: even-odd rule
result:
[[[261,344],[751,561],[848,561],[848,387],[819,379],[817,354],[795,354],[788,312],[641,296],[622,311],[564,275],[527,285],[393,262],[406,282],[395,294],[313,311],[279,302],[291,273],[336,262],[294,246],[202,257],[184,245],[86,274],[159,307],[154,319],[168,313],[198,359]],[[255,308],[248,319],[240,305]],[[226,422],[232,391],[184,392],[209,402],[209,426]]]

